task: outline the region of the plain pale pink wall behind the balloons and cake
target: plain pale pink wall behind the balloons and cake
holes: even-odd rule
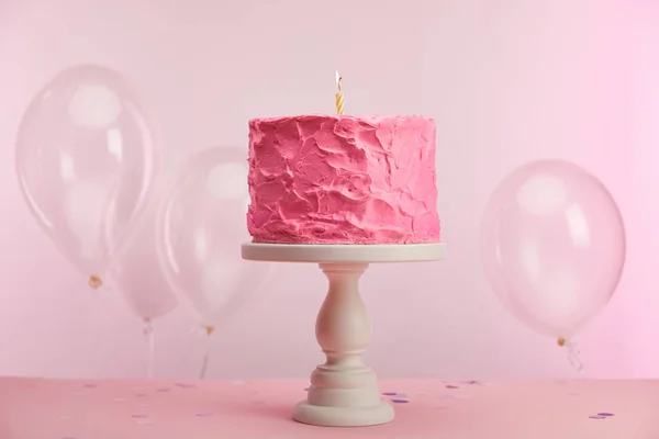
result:
[[[478,224],[514,167],[587,167],[618,200],[628,234],[618,293],[581,339],[587,373],[658,376],[657,23],[649,0],[0,2],[0,374],[144,374],[141,323],[121,295],[80,282],[13,171],[31,97],[62,68],[99,63],[137,85],[172,165],[209,146],[246,147],[253,116],[333,112],[337,68],[348,112],[436,119],[450,255],[364,279],[368,361],[383,378],[570,372],[554,340],[496,302]],[[317,269],[282,266],[269,294],[214,336],[209,376],[306,376],[322,359],[313,324],[324,289]],[[156,322],[156,376],[196,376],[204,340],[192,328],[182,309]]]

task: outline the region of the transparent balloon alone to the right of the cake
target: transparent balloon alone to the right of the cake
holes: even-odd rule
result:
[[[608,190],[585,170],[560,160],[530,162],[492,193],[481,257],[509,311],[566,345],[617,288],[623,218]]]

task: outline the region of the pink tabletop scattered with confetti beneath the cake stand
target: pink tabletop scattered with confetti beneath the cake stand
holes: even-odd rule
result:
[[[306,385],[5,378],[0,439],[659,438],[659,381],[386,381],[396,418],[362,428],[291,420]]]

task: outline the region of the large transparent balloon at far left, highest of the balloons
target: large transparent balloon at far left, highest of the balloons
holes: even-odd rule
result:
[[[15,147],[37,223],[99,286],[143,211],[157,165],[153,128],[132,87],[100,66],[62,71],[29,105]]]

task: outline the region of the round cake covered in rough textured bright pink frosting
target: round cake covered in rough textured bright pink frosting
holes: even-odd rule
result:
[[[248,183],[254,243],[439,241],[433,120],[254,119]]]

